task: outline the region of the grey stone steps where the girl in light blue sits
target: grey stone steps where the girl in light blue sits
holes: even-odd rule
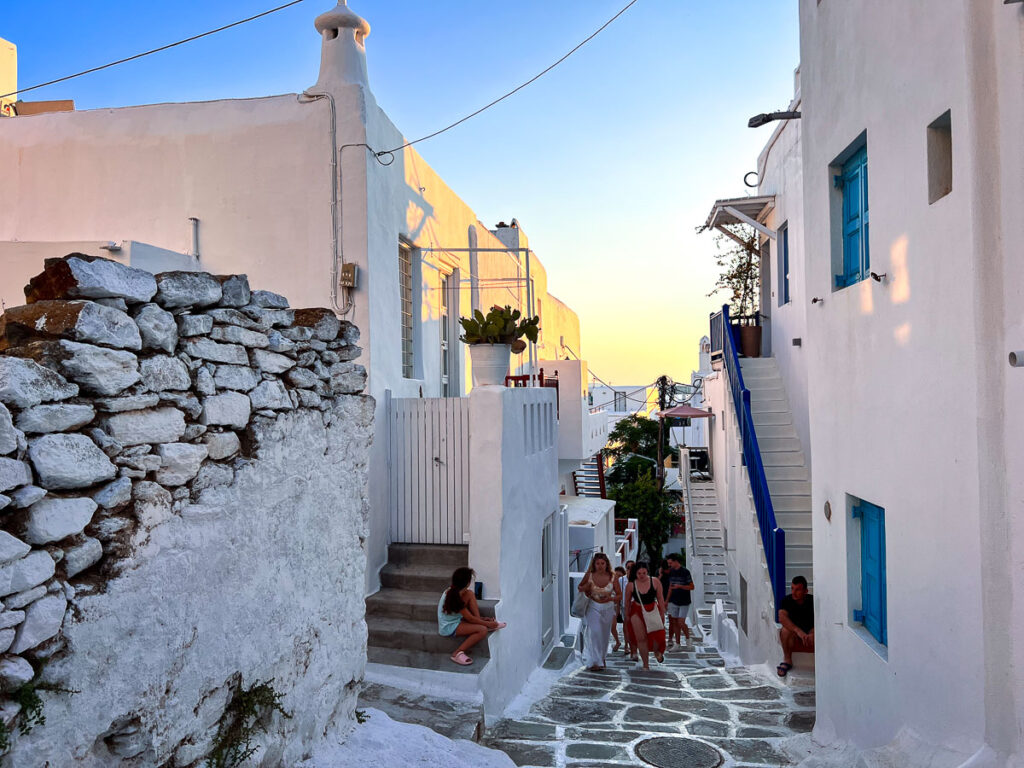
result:
[[[452,655],[461,640],[437,634],[437,601],[452,571],[469,563],[469,547],[392,544],[381,568],[381,589],[367,598],[367,660],[390,667],[478,675],[490,653],[487,640],[470,651],[474,664],[460,667]],[[480,600],[480,613],[495,615],[495,601]]]

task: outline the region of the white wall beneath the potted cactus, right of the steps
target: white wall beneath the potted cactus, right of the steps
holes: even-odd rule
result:
[[[499,600],[497,615],[515,628],[488,640],[490,660],[480,673],[488,719],[501,714],[550,647],[541,642],[538,598],[544,522],[559,513],[554,409],[554,392],[544,389],[486,386],[470,394],[469,561],[484,597]],[[555,558],[561,562],[557,550]],[[556,578],[556,593],[559,584]],[[555,600],[555,610],[563,609]],[[558,616],[550,621],[555,640],[562,625]]]

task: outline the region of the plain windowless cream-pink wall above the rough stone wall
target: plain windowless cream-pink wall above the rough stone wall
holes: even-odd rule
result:
[[[326,103],[295,95],[4,120],[0,240],[187,253],[195,216],[204,268],[327,306],[329,125]]]

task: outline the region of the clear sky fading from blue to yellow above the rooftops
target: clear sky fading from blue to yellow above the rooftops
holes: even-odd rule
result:
[[[371,25],[370,82],[410,137],[550,65],[627,0],[351,0]],[[27,87],[260,12],[274,0],[0,0]],[[313,17],[331,0],[32,93],[78,109],[259,96],[316,80]],[[688,379],[715,282],[694,227],[744,193],[799,59],[796,0],[639,0],[540,81],[418,145],[494,225],[515,216],[580,314],[585,355],[613,384]]]

